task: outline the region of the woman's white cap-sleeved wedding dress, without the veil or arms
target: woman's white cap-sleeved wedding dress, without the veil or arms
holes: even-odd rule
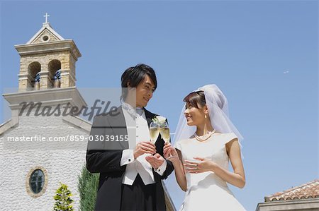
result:
[[[196,138],[180,140],[175,147],[181,151],[183,160],[196,161],[193,157],[203,157],[228,169],[225,144],[233,138],[237,138],[235,133],[218,133],[202,142]],[[198,174],[186,172],[186,181],[187,191],[180,210],[245,210],[230,191],[227,183],[213,171]]]

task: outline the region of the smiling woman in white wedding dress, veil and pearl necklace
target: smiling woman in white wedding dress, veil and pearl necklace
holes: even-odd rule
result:
[[[242,136],[228,119],[226,97],[216,85],[205,85],[184,102],[175,145],[164,145],[164,157],[174,164],[177,183],[186,191],[180,210],[245,210],[227,185],[243,188],[245,171]]]

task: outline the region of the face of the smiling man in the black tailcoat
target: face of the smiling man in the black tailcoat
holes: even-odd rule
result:
[[[146,107],[153,96],[155,85],[147,74],[136,87],[136,107]]]

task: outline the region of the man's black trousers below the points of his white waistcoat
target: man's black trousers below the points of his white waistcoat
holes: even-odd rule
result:
[[[145,185],[140,174],[132,186],[122,184],[121,210],[156,210],[156,184]]]

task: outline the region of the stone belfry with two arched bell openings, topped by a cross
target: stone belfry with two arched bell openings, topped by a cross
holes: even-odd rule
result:
[[[73,40],[65,40],[48,22],[26,43],[15,45],[20,55],[19,92],[75,86],[75,63],[81,56]]]

